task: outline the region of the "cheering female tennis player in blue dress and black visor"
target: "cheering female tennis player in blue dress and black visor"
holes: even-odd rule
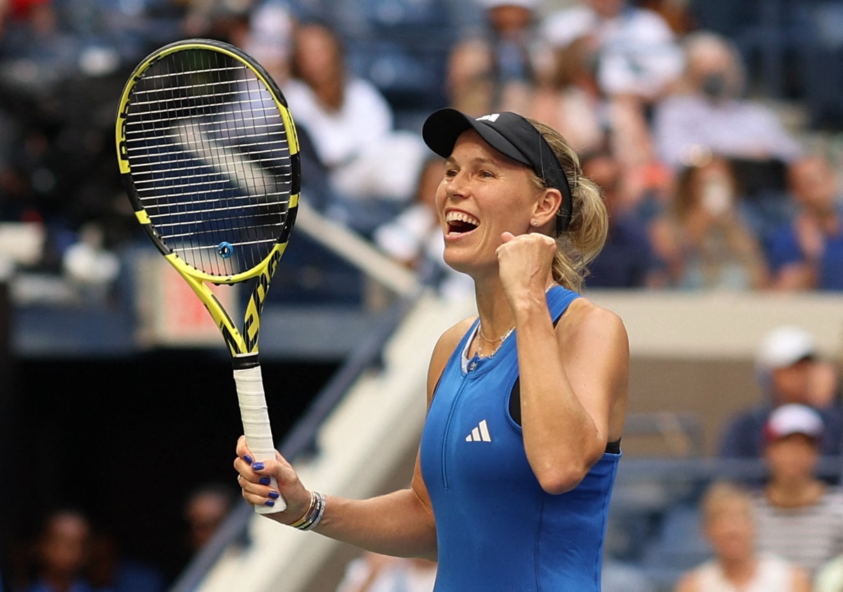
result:
[[[559,133],[514,113],[438,110],[422,135],[444,159],[444,258],[473,278],[479,316],[433,349],[411,487],[324,496],[241,438],[243,496],[282,495],[266,515],[283,524],[438,559],[438,592],[599,590],[629,374],[620,318],[577,293],[606,236],[599,189]]]

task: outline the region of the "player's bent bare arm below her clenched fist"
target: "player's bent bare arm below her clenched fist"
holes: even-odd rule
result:
[[[572,309],[559,329],[537,299],[518,303],[516,313],[524,449],[548,492],[576,487],[609,432],[613,323],[596,307]]]

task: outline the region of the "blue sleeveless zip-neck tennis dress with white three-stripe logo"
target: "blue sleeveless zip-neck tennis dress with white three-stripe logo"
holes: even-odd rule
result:
[[[558,320],[577,293],[547,293]],[[609,496],[620,454],[605,453],[570,492],[539,485],[509,414],[518,379],[513,336],[491,358],[456,348],[421,435],[421,474],[436,516],[435,592],[599,592]]]

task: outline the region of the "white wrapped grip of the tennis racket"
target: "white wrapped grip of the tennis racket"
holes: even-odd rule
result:
[[[237,385],[243,433],[252,456],[255,460],[274,459],[275,442],[272,439],[269,424],[260,366],[234,370],[234,384]],[[271,477],[270,487],[279,491],[275,477]],[[258,514],[273,514],[285,509],[287,509],[287,501],[283,496],[275,500],[274,506],[255,505],[255,512]]]

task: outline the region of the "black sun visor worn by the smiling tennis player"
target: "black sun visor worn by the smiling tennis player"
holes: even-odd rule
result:
[[[440,109],[427,117],[421,127],[421,137],[434,153],[447,159],[454,152],[459,135],[471,129],[498,152],[529,166],[546,186],[561,191],[556,234],[564,232],[571,222],[571,187],[550,144],[524,116],[502,111],[475,119],[456,109]]]

